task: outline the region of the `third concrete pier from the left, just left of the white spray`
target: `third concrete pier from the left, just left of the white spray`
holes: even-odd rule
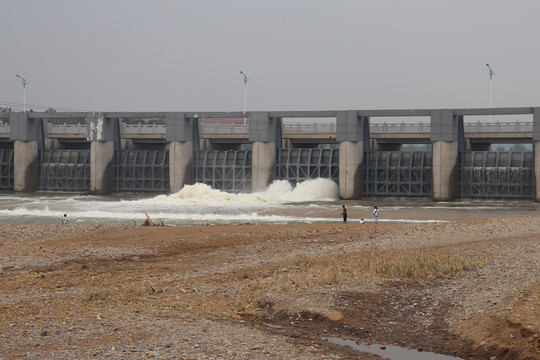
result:
[[[169,142],[170,192],[176,193],[184,185],[193,184],[193,147],[198,143],[195,136],[198,137],[199,125],[197,119],[186,118],[180,112],[168,113],[165,121]]]

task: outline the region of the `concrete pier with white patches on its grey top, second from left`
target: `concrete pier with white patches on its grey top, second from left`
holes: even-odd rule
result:
[[[86,139],[90,141],[90,192],[109,194],[114,190],[114,140],[116,119],[95,113],[87,119]]]

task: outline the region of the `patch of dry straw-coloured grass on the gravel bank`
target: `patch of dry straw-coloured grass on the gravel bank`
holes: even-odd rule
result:
[[[264,279],[233,281],[237,295],[230,304],[237,314],[255,314],[272,294],[294,297],[345,285],[385,279],[426,281],[459,275],[489,262],[487,257],[464,257],[434,251],[355,253],[338,257],[299,256],[286,268]]]

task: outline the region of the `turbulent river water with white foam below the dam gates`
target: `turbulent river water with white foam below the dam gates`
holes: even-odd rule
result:
[[[275,181],[265,191],[232,194],[204,184],[187,185],[170,195],[114,194],[91,196],[67,193],[0,193],[0,223],[60,223],[67,214],[72,223],[140,225],[145,213],[165,225],[339,223],[341,204],[349,222],[372,221],[374,204],[380,222],[424,222],[457,218],[538,215],[533,202],[451,202],[405,200],[340,201],[336,183],[315,179],[292,187]]]

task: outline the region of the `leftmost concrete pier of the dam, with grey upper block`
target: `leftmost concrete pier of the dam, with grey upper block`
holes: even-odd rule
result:
[[[33,192],[38,189],[41,126],[41,119],[30,119],[26,112],[10,114],[10,139],[14,141],[15,191]]]

